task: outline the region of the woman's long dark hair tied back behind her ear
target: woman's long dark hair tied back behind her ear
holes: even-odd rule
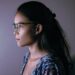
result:
[[[58,56],[64,64],[66,73],[68,73],[71,63],[70,47],[65,39],[63,29],[55,18],[56,15],[44,4],[36,1],[22,4],[17,12],[27,16],[35,25],[42,24],[43,31],[38,39],[39,47]]]

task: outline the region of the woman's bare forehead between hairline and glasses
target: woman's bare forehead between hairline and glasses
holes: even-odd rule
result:
[[[30,21],[26,16],[22,15],[21,13],[17,13],[14,18],[14,23],[20,22],[30,22]]]

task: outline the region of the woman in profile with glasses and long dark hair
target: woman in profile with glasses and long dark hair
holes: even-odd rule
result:
[[[68,75],[70,55],[63,30],[49,8],[36,1],[23,3],[14,19],[19,47],[27,46],[21,75]]]

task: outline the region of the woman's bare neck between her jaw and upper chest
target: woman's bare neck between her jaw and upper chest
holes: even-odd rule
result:
[[[30,52],[30,58],[38,58],[47,54],[45,50],[42,50],[38,47],[37,43],[34,43],[28,47]]]

